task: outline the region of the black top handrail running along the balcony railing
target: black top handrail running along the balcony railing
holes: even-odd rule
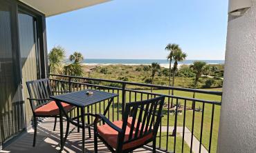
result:
[[[135,82],[128,82],[128,81],[96,79],[96,78],[87,78],[87,77],[81,77],[81,76],[68,76],[68,75],[62,75],[62,74],[49,74],[49,75],[50,76],[62,76],[62,77],[73,78],[73,79],[86,79],[86,80],[91,80],[91,81],[104,81],[104,82],[110,82],[110,83],[125,83],[127,85],[140,85],[140,86],[145,86],[145,87],[158,88],[158,89],[162,89],[162,90],[179,90],[179,91],[184,91],[184,92],[196,92],[196,93],[201,93],[201,94],[213,94],[213,95],[218,95],[218,96],[222,95],[222,92],[217,92],[217,91],[180,88],[180,87],[172,87],[172,86],[166,86],[166,85],[153,85],[153,84],[135,83]]]

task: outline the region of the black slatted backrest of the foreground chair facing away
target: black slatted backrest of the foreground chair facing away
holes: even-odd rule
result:
[[[124,117],[122,119],[123,132],[118,135],[118,143],[120,143],[118,144],[118,150],[122,150],[122,145],[125,143],[136,141],[148,134],[152,134],[152,136],[149,136],[149,141],[156,138],[161,122],[164,100],[165,96],[158,96],[154,99],[126,104]],[[127,127],[130,128],[129,137],[125,139]]]

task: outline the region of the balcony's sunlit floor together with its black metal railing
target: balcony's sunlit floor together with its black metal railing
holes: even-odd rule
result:
[[[50,74],[49,78],[55,94],[85,89],[119,94],[107,114],[111,121],[122,119],[125,103],[165,95],[164,116],[156,141],[158,152],[217,152],[222,92],[57,74]],[[171,90],[174,90],[173,96],[169,94]],[[89,106],[85,111],[103,113],[105,107],[107,101],[102,101]],[[76,112],[73,110],[70,115],[75,116]],[[36,147],[32,147],[33,130],[30,130],[17,143],[6,147],[6,152],[57,152],[60,149],[60,131],[53,132],[53,124],[52,119],[42,119],[39,123]],[[88,138],[88,134],[86,136]],[[81,139],[82,134],[74,126],[71,127],[64,152],[81,152]],[[86,152],[93,152],[93,138],[86,139],[85,146]],[[109,152],[102,143],[99,151]],[[151,152],[151,144],[134,152]]]

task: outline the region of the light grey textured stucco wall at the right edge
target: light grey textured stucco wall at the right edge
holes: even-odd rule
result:
[[[256,152],[256,3],[228,23],[218,152]]]

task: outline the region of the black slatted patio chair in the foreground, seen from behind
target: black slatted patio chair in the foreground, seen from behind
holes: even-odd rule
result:
[[[111,122],[96,114],[94,121],[94,151],[98,152],[98,138],[111,152],[132,152],[153,141],[156,152],[156,134],[161,122],[164,96],[127,103],[121,121]],[[102,121],[103,125],[97,125]],[[106,123],[106,124],[105,124]]]

